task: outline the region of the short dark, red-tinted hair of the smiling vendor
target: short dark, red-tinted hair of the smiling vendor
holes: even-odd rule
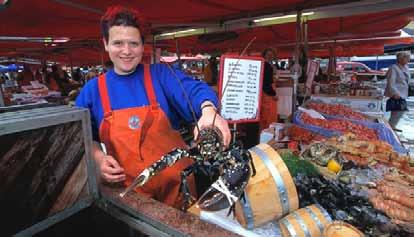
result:
[[[105,41],[109,39],[109,29],[112,26],[132,26],[141,33],[141,40],[144,43],[143,18],[141,14],[134,9],[128,9],[123,6],[109,7],[101,17],[101,31]]]

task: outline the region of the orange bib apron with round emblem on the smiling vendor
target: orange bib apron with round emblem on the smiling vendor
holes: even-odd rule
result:
[[[164,111],[156,101],[149,65],[144,65],[144,85],[148,106],[111,110],[105,74],[99,76],[98,86],[104,110],[99,136],[108,153],[124,168],[129,185],[132,180],[161,156],[174,148],[186,145],[179,132],[171,128]],[[154,176],[136,191],[170,206],[180,208],[180,172],[192,164],[188,158],[178,161]],[[195,190],[193,178],[188,178],[190,190]],[[192,192],[192,194],[195,194]]]

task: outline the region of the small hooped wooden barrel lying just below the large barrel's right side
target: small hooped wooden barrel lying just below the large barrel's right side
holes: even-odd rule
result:
[[[321,237],[331,222],[331,217],[323,207],[310,205],[279,220],[279,226],[283,237]]]

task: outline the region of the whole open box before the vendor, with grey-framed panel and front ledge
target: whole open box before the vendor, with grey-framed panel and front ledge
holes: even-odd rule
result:
[[[235,236],[120,186],[100,184],[89,112],[0,113],[0,236]]]

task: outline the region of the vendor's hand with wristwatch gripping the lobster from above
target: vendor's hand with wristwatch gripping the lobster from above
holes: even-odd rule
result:
[[[212,126],[214,121],[214,126],[216,126],[220,132],[223,135],[223,144],[225,147],[228,147],[231,140],[231,134],[230,129],[227,121],[221,117],[217,111],[216,108],[211,107],[205,107],[202,111],[202,115],[200,119],[197,122],[197,125],[200,129],[203,127]],[[194,139],[197,139],[198,137],[198,130],[197,128],[194,129]]]

